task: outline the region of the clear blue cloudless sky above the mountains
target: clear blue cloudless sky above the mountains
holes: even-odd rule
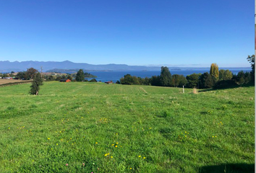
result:
[[[0,1],[0,61],[249,66],[254,1]]]

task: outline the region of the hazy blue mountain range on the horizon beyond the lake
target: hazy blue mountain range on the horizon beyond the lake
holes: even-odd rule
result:
[[[71,61],[0,61],[0,73],[8,73],[11,71],[27,71],[27,68],[35,68],[40,71],[43,68],[43,72],[59,72],[59,73],[72,73],[77,72],[79,69],[84,71],[161,71],[160,66],[128,66],[126,64],[106,64],[106,65],[93,65],[89,63],[73,63]],[[194,70],[194,69],[210,69],[209,67],[169,67],[170,70]],[[231,69],[231,68],[228,68]],[[249,69],[249,68],[239,68]]]

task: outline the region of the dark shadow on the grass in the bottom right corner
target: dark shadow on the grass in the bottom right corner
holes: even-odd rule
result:
[[[220,164],[200,167],[198,173],[251,173],[255,172],[255,164]]]

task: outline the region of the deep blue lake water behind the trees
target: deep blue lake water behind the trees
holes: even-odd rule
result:
[[[219,68],[219,69],[224,69],[229,71],[232,71],[233,74],[237,74],[239,71],[251,71],[251,68]],[[210,72],[210,68],[182,68],[181,70],[170,70],[171,74],[182,74],[184,76],[190,75],[190,74],[203,74],[205,72]],[[88,73],[93,74],[97,76],[95,78],[97,81],[113,81],[116,82],[117,80],[120,80],[121,77],[124,77],[126,74],[130,74],[132,76],[137,76],[141,78],[148,77],[150,78],[151,76],[158,76],[160,75],[161,71],[89,71]],[[86,78],[88,80],[93,79],[93,78]]]

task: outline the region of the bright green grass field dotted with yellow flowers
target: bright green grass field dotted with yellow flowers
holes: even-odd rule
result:
[[[254,172],[255,87],[0,87],[0,172]]]

